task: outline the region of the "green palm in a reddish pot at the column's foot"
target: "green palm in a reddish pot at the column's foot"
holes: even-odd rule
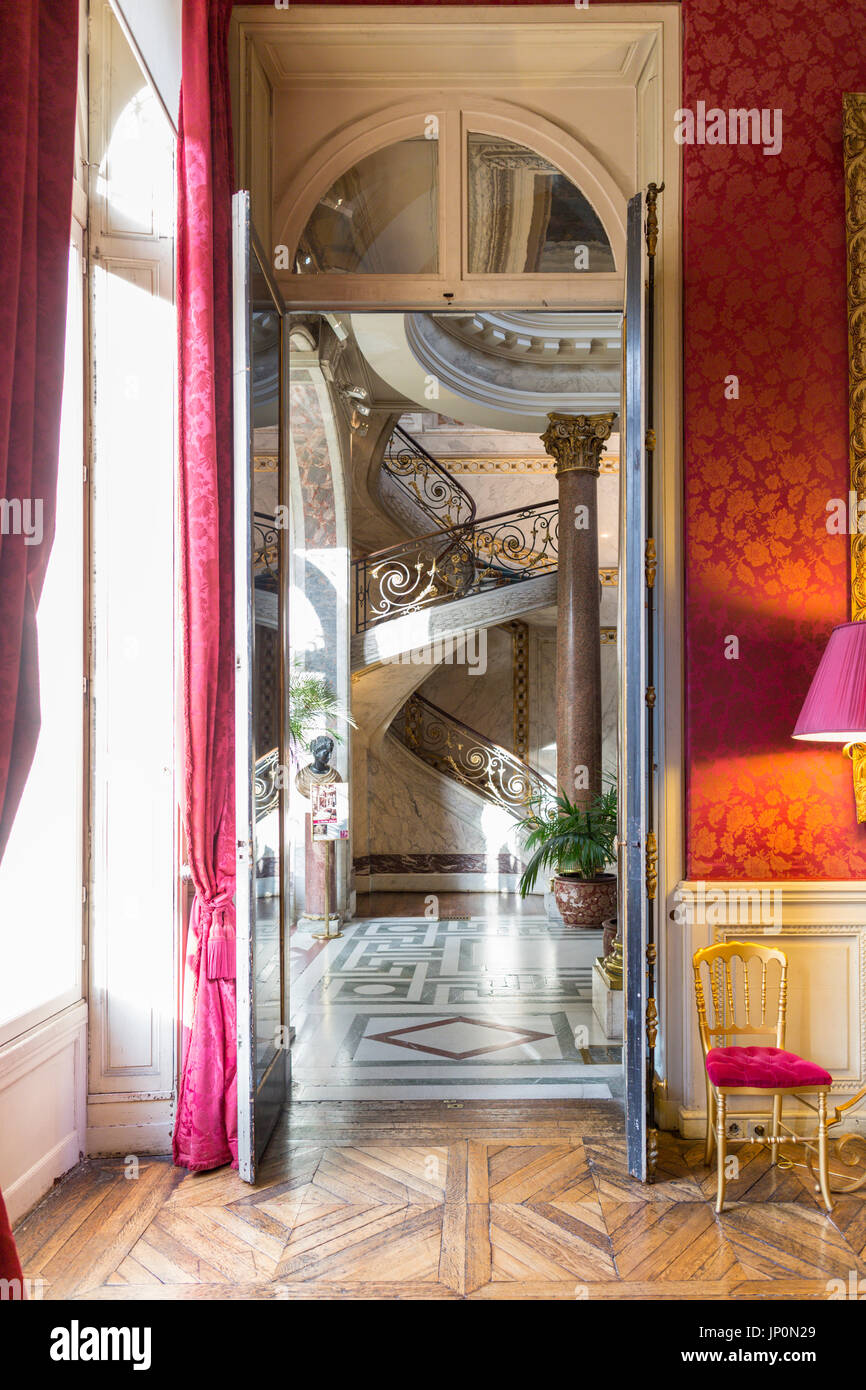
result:
[[[520,878],[520,897],[532,892],[544,869],[555,872],[553,895],[567,927],[601,927],[616,915],[617,798],[612,784],[589,806],[575,806],[564,791],[535,802],[520,821],[532,851]]]

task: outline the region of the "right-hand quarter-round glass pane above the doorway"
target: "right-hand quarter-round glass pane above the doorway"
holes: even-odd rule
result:
[[[470,275],[563,275],[616,270],[588,199],[535,150],[468,136]]]

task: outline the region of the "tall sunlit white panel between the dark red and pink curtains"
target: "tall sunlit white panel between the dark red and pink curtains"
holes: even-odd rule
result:
[[[92,15],[93,1104],[172,1084],[177,320],[174,136],[111,8]]]

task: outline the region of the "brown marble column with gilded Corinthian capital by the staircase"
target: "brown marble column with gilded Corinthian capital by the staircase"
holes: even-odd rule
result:
[[[598,475],[616,414],[548,416],[559,480],[556,776],[578,806],[602,790]]]

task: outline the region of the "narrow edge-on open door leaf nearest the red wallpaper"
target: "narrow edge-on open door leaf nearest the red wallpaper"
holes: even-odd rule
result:
[[[620,931],[626,958],[626,1137],[628,1172],[655,1170],[655,582],[652,460],[656,199],[628,203],[620,496]],[[646,214],[646,225],[644,225]]]

